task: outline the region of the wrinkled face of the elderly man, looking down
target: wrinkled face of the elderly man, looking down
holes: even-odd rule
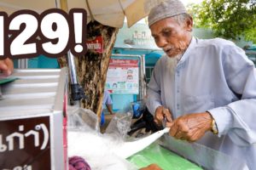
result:
[[[156,45],[162,48],[169,57],[175,57],[188,48],[192,25],[192,20],[180,25],[177,20],[169,17],[155,22],[149,28]]]

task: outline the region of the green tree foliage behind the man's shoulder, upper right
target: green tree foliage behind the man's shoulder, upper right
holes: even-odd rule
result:
[[[211,28],[218,37],[256,43],[256,0],[204,0],[190,4],[195,26]]]

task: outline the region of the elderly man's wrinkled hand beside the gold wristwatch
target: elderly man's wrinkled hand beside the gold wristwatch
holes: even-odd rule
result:
[[[172,137],[195,142],[212,129],[212,116],[208,112],[180,116],[169,127]]]

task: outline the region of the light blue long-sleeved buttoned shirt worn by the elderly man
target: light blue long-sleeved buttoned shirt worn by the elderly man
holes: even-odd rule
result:
[[[209,111],[218,136],[206,133],[200,144],[247,161],[256,168],[256,70],[233,42],[192,38],[174,71],[162,56],[148,84],[148,110],[164,105],[173,118]]]

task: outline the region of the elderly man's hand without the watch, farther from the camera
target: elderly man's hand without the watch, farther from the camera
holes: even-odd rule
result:
[[[164,106],[159,106],[154,113],[154,122],[161,126],[164,116],[166,116],[166,125],[168,125],[168,122],[172,122],[172,113],[168,109],[166,109]]]

